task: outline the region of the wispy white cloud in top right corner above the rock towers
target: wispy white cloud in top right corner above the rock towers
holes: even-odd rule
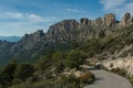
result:
[[[125,12],[133,14],[133,1],[132,0],[100,0],[103,4],[103,11],[114,12],[122,16]]]

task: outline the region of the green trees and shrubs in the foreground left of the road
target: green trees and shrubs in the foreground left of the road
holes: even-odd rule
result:
[[[34,64],[11,62],[0,72],[1,88],[81,88],[94,81],[94,75],[82,70],[85,56],[79,50],[50,52]],[[76,77],[72,69],[82,72]]]

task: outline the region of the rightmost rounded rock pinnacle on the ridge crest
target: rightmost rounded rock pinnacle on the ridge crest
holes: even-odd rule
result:
[[[126,12],[120,23],[121,26],[125,26],[126,24],[130,24],[132,22],[131,14]]]

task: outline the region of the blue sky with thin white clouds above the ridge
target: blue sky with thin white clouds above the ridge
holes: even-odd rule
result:
[[[133,0],[0,0],[0,36],[22,36],[64,19],[133,14]]]

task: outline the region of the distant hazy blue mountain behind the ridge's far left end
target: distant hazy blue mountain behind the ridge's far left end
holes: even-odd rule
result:
[[[21,40],[21,36],[0,36],[0,40],[7,42],[18,42]]]

